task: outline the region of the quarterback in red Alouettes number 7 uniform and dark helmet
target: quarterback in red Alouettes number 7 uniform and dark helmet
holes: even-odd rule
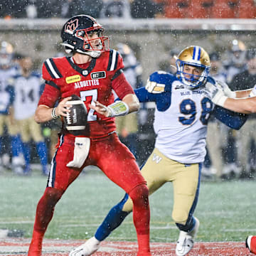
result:
[[[149,191],[132,153],[115,133],[114,117],[139,109],[139,101],[122,73],[122,57],[107,49],[103,28],[87,15],[70,18],[61,31],[62,45],[72,57],[50,58],[43,63],[46,87],[38,102],[38,123],[66,117],[71,95],[87,107],[87,124],[74,136],[63,126],[53,156],[46,191],[38,202],[28,256],[41,256],[43,235],[56,203],[88,165],[98,166],[110,180],[124,189],[134,204],[138,256],[150,256]],[[121,101],[114,102],[114,90]],[[57,107],[55,103],[58,102]],[[82,245],[75,255],[85,255]]]

